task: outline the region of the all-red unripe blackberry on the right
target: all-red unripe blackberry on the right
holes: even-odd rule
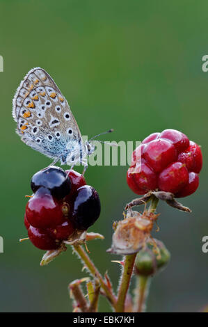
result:
[[[189,196],[198,188],[202,169],[200,146],[182,132],[153,133],[132,154],[127,183],[136,194],[159,190]]]

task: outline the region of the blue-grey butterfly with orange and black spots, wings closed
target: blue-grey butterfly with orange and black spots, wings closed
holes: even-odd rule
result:
[[[79,162],[86,170],[86,158],[95,150],[90,142],[93,138],[83,142],[67,100],[42,68],[30,70],[17,88],[13,118],[22,141],[54,159],[51,164],[61,161],[62,165],[74,166]],[[113,129],[105,133],[110,131]]]

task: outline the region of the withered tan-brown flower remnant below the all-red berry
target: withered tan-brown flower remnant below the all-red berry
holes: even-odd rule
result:
[[[113,233],[112,246],[107,252],[119,255],[130,255],[137,253],[150,238],[154,221],[157,221],[158,214],[153,212],[127,212],[127,218],[118,222]]]

